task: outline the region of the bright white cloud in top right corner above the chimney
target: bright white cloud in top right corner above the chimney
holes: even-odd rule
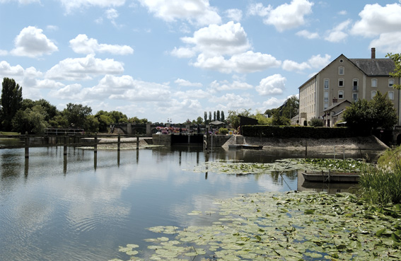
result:
[[[351,29],[354,35],[375,37],[382,33],[400,33],[401,5],[366,4],[364,10],[359,13],[360,21],[357,21]]]

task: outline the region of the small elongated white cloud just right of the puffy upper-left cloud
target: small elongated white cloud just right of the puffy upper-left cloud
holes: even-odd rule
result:
[[[99,44],[98,40],[88,38],[87,35],[77,35],[69,41],[70,47],[78,54],[95,54],[96,52],[110,52],[111,54],[133,54],[134,49],[128,45]]]

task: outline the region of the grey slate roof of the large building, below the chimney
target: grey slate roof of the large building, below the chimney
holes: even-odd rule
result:
[[[367,76],[388,76],[395,65],[392,59],[349,59]]]

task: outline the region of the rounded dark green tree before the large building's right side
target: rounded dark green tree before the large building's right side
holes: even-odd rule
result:
[[[342,120],[354,129],[390,129],[397,124],[397,114],[387,94],[376,93],[372,100],[357,100],[344,111]]]

